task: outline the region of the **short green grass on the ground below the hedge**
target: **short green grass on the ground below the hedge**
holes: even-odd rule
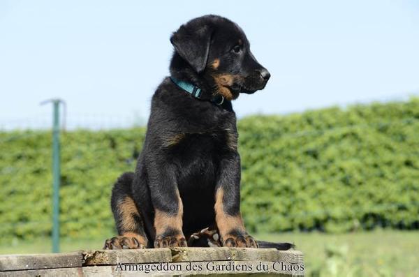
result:
[[[99,239],[61,239],[61,251],[98,249]],[[350,234],[258,234],[257,239],[291,241],[304,253],[306,276],[419,276],[419,232],[376,230]],[[11,241],[0,254],[49,253],[50,239]]]

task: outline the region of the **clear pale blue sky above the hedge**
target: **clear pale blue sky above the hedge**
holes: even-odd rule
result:
[[[55,97],[73,125],[147,119],[170,33],[208,13],[237,22],[272,74],[239,117],[419,94],[418,1],[1,0],[0,125],[49,118],[38,103]]]

